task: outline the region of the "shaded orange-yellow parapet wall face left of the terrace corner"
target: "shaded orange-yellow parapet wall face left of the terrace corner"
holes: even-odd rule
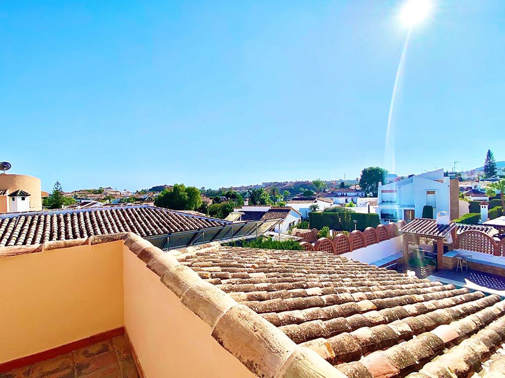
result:
[[[0,363],[122,327],[122,244],[0,248]]]

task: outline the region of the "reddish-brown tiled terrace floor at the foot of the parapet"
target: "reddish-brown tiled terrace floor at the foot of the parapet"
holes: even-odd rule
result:
[[[124,335],[20,367],[0,378],[138,378]]]

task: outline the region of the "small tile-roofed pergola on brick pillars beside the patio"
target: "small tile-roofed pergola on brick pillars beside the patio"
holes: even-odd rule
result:
[[[433,239],[437,245],[437,268],[442,269],[442,255],[444,239],[448,240],[449,250],[452,250],[452,243],[456,240],[456,223],[437,223],[436,219],[416,218],[399,230],[403,234],[403,263],[409,263],[409,241],[420,244],[422,237]]]

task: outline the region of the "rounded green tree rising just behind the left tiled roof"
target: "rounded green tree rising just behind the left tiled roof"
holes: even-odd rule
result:
[[[174,184],[156,197],[155,205],[172,210],[197,210],[201,206],[200,191],[194,186]]]

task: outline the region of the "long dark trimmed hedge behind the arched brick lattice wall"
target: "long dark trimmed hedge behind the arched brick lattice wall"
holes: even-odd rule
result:
[[[329,227],[337,231],[354,231],[354,220],[357,220],[356,229],[364,231],[367,227],[377,227],[380,223],[378,214],[363,213],[333,213],[311,212],[309,223],[311,228],[318,230]]]

